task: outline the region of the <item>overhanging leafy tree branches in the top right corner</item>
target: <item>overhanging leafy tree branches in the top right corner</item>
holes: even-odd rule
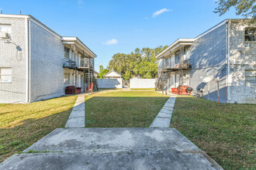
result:
[[[216,2],[218,7],[215,8],[215,13],[220,15],[225,14],[231,7],[236,9],[236,15],[242,15],[244,18],[251,18],[251,22],[256,22],[256,0],[219,0]]]

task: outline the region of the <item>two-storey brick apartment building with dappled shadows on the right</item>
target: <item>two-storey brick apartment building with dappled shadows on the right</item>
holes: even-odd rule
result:
[[[216,81],[202,81],[209,76],[219,79],[220,102],[256,103],[256,26],[248,19],[226,19],[194,39],[178,39],[157,59],[157,90],[189,86],[218,100]]]

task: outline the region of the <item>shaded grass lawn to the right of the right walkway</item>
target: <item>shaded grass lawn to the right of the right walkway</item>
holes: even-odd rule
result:
[[[221,104],[177,97],[176,128],[224,169],[255,169],[256,104]]]

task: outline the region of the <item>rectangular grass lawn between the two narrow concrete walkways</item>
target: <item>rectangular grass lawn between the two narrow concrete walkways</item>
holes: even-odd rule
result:
[[[153,91],[106,91],[85,96],[85,127],[149,127],[166,100],[167,96]]]

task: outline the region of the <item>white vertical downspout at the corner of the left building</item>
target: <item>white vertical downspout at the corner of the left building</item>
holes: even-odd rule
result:
[[[26,103],[30,102],[30,19],[25,19],[26,29]]]

